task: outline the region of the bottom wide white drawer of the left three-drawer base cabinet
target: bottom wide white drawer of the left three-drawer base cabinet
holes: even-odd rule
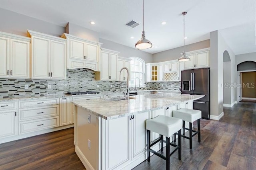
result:
[[[43,129],[53,128],[59,126],[59,117],[50,117],[44,119],[37,119],[36,121],[25,121],[19,123],[19,134],[40,131]]]

